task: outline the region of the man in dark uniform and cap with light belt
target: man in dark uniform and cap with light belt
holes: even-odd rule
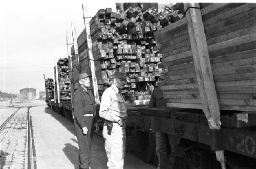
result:
[[[90,75],[82,73],[78,76],[79,86],[74,94],[74,124],[79,146],[79,161],[81,168],[90,168],[91,143],[94,127],[99,130],[95,109],[94,96],[90,87]]]

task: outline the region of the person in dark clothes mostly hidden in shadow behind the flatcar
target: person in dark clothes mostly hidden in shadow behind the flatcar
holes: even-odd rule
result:
[[[160,80],[161,79],[160,77]],[[158,84],[158,82],[157,82]],[[152,92],[148,107],[166,107],[163,91],[156,84]],[[176,147],[180,144],[180,137],[172,134],[156,132],[156,153],[158,157],[157,169],[173,169],[176,161]]]

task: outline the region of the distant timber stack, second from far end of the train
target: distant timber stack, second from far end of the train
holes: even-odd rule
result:
[[[69,59],[59,59],[57,61],[59,99],[71,100],[71,88],[69,79]]]

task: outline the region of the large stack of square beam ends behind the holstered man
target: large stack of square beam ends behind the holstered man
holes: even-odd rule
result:
[[[142,12],[139,7],[130,7],[116,13],[106,8],[92,18],[90,31],[99,95],[118,70],[129,77],[123,90],[127,101],[150,99],[161,74],[158,64],[162,55],[153,49],[154,32],[162,28],[160,15],[155,8]]]

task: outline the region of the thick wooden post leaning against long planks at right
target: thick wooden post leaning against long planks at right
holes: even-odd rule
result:
[[[192,8],[188,9],[189,7]],[[187,28],[203,111],[207,117],[210,129],[219,130],[221,128],[220,109],[210,65],[200,6],[199,4],[184,3],[184,9],[188,9],[186,12]],[[222,169],[226,168],[224,151],[216,151],[216,157],[217,160],[220,161]]]

